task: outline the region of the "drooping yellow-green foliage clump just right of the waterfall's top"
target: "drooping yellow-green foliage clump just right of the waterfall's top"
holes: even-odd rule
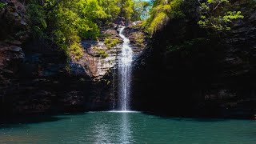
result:
[[[156,0],[150,10],[150,18],[147,19],[144,27],[154,34],[155,31],[166,25],[170,19],[182,18],[184,14],[181,10],[182,0]]]

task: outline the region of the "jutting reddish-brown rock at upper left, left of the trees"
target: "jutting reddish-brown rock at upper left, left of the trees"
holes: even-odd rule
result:
[[[22,53],[22,42],[27,38],[26,16],[24,7],[15,2],[2,2],[0,8],[0,74],[14,74],[15,66],[9,66],[24,58]],[[25,33],[25,34],[23,34]],[[5,74],[4,74],[5,73]],[[1,83],[6,83],[2,79]],[[3,84],[4,85],[4,84]]]

